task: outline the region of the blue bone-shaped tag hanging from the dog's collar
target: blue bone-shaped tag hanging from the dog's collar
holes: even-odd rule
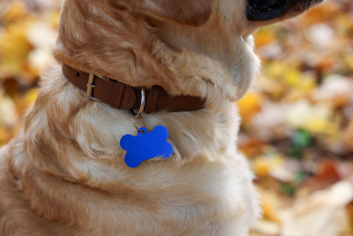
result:
[[[125,163],[128,167],[138,167],[142,161],[160,156],[168,158],[173,153],[173,147],[166,140],[168,138],[168,129],[164,126],[156,126],[152,132],[148,132],[142,127],[137,136],[126,134],[120,139],[120,146],[127,151]]]

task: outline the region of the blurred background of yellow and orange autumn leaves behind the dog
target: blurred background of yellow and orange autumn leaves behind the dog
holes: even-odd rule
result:
[[[0,0],[0,146],[53,61],[61,0]],[[353,235],[353,1],[254,34],[262,72],[239,102],[239,148],[263,202],[252,236]]]

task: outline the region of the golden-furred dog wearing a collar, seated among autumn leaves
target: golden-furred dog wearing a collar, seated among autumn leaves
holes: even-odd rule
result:
[[[248,235],[261,210],[235,102],[259,71],[251,34],[319,2],[65,0],[58,63],[0,150],[0,234]],[[139,126],[168,129],[173,154],[130,168],[119,145],[137,134],[130,111],[87,97],[62,65],[204,106],[142,113]]]

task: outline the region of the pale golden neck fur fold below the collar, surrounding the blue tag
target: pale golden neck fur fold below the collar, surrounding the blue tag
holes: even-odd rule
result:
[[[206,108],[142,116],[149,130],[157,125],[168,129],[168,142],[174,152],[167,160],[151,160],[131,169],[125,165],[125,151],[119,146],[122,136],[137,134],[131,113],[90,100],[66,80],[60,65],[54,65],[42,76],[37,101],[18,137],[28,156],[23,160],[70,182],[115,190],[122,181],[138,183],[139,175],[148,173],[149,178],[155,178],[153,171],[172,171],[198,158],[220,161],[225,156],[231,158],[236,151],[239,118],[234,104],[218,112]]]

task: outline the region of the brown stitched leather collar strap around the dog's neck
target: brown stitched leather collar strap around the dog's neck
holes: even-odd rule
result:
[[[76,70],[68,65],[62,66],[66,79],[80,89],[87,91],[89,73]],[[103,80],[95,76],[95,87],[92,96],[101,102],[107,103],[116,109],[139,109],[141,103],[141,90],[131,87],[117,80]],[[205,99],[193,96],[169,96],[160,86],[153,86],[146,90],[146,103],[144,112],[147,114],[165,110],[169,112],[196,111],[205,107]]]

